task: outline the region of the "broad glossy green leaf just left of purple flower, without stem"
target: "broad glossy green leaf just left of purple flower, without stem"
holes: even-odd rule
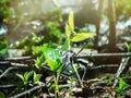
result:
[[[44,54],[51,71],[57,72],[61,65],[61,62],[60,62],[61,54],[59,53],[59,51],[52,48],[46,47]]]

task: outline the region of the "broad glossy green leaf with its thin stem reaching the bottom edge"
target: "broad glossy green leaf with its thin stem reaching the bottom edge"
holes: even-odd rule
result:
[[[50,45],[45,45],[44,50],[45,59],[55,77],[55,98],[59,97],[58,82],[60,77],[60,70],[62,68],[62,62],[60,61],[61,54],[57,49],[51,48]]]

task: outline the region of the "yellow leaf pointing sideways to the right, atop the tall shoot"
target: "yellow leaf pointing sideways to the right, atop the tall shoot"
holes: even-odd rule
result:
[[[83,41],[85,39],[92,38],[96,36],[95,33],[78,33],[72,39],[71,41],[73,42],[79,42],[79,41]]]

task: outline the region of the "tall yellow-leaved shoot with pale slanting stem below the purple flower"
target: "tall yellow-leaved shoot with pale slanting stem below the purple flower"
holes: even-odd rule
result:
[[[69,14],[68,17],[68,23],[66,24],[66,35],[67,35],[67,40],[63,45],[63,50],[66,51],[71,51],[71,42],[79,42],[79,41],[83,41],[86,40],[88,38],[93,38],[94,36],[96,36],[95,33],[75,33],[74,30],[74,14],[73,12],[71,12]],[[70,57],[68,58],[68,60],[70,60]],[[72,64],[73,70],[75,71],[75,74],[82,85],[82,81],[80,78],[80,75],[78,73],[76,68]]]

